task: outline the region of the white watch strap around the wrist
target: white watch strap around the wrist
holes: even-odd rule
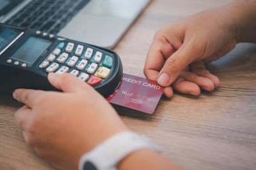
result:
[[[84,154],[79,162],[79,170],[83,170],[86,162],[92,163],[97,170],[114,170],[120,160],[143,148],[159,151],[159,147],[145,135],[120,132],[106,139],[89,153]]]

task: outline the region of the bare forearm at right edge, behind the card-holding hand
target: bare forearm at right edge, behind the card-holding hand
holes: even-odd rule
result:
[[[236,38],[239,42],[256,42],[256,0],[237,0],[227,4],[231,8]]]

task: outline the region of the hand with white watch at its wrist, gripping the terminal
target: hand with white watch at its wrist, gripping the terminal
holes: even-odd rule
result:
[[[78,169],[81,156],[127,130],[116,111],[91,86],[70,75],[49,73],[62,92],[17,89],[25,105],[15,112],[26,143],[59,169]]]

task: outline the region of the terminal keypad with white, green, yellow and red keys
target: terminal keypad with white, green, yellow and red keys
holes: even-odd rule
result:
[[[60,42],[51,54],[40,63],[45,72],[71,73],[94,86],[107,79],[113,58],[92,47]]]

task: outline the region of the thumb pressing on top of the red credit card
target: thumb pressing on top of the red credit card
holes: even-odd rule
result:
[[[157,79],[160,86],[170,86],[180,75],[182,69],[194,61],[198,52],[192,46],[184,43],[179,50],[166,59]]]

